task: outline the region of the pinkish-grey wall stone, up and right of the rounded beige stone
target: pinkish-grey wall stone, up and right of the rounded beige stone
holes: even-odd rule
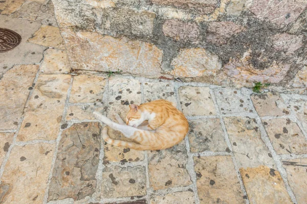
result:
[[[243,27],[230,21],[210,22],[207,28],[206,40],[214,44],[226,44],[228,39]]]

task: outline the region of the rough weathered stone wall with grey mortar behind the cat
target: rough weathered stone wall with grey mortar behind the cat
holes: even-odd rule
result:
[[[73,69],[307,85],[305,0],[53,0]]]

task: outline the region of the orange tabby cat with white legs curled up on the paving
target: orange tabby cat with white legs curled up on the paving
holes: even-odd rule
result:
[[[93,112],[98,120],[135,141],[114,140],[107,135],[107,127],[104,127],[102,138],[106,143],[138,150],[159,150],[178,144],[188,133],[187,119],[170,101],[153,100],[140,106],[132,104],[129,107],[126,122],[117,114],[115,118],[118,123]]]

